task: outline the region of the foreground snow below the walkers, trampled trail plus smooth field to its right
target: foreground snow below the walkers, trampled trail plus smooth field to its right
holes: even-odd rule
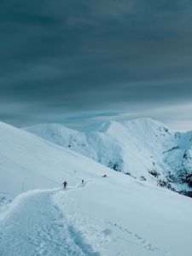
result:
[[[36,189],[11,204],[1,255],[190,255],[191,200],[130,177]]]

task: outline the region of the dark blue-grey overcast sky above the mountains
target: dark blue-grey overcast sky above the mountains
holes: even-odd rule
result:
[[[0,119],[192,130],[191,0],[2,0]]]

